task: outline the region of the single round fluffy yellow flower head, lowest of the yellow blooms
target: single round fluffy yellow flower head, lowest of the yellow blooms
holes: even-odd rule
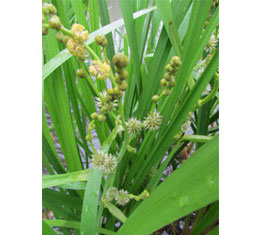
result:
[[[92,76],[99,80],[106,80],[110,74],[110,66],[107,63],[102,63],[99,60],[93,60],[92,65],[89,66],[89,72]]]

